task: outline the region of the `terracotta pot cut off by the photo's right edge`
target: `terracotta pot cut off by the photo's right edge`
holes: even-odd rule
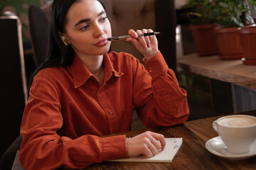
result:
[[[256,26],[239,28],[238,33],[244,55],[242,62],[248,65],[256,65]]]

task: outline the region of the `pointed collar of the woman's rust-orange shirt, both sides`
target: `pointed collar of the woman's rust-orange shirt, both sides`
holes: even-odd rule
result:
[[[122,72],[117,72],[113,64],[110,60],[110,56],[108,54],[103,56],[103,63],[104,63],[104,82],[107,82],[112,75],[114,77],[120,77],[123,75]],[[75,55],[73,63],[70,65],[71,74],[73,75],[73,81],[74,81],[74,87],[77,89],[78,87],[82,86],[82,84],[85,84],[85,82],[92,77],[92,74],[89,72],[89,70],[85,67],[85,65],[82,63],[78,55]],[[113,74],[114,73],[114,74]]]

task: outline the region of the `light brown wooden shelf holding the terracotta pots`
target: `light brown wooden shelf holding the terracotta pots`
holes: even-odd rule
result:
[[[256,89],[256,66],[242,64],[241,60],[221,60],[218,56],[198,57],[197,53],[177,60],[186,72]]]

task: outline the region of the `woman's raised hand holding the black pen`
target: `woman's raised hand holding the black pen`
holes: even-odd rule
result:
[[[139,52],[142,53],[146,60],[149,60],[156,54],[156,52],[159,51],[158,42],[155,35],[138,37],[138,34],[151,32],[153,32],[151,29],[137,30],[136,32],[130,29],[129,35],[132,35],[132,38],[127,38],[127,41],[132,42],[132,44],[137,48],[137,50],[139,50]]]

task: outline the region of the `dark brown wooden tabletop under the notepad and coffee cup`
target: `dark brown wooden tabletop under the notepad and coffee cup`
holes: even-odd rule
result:
[[[249,111],[242,114],[255,115],[256,111]],[[212,123],[220,116],[192,120],[184,125],[177,125],[171,128],[148,129],[164,134],[165,137],[182,137],[183,145],[178,150],[176,157],[170,164],[162,163],[135,163],[135,162],[102,162],[87,167],[87,169],[256,169],[256,157],[250,159],[232,161],[217,157],[205,147],[208,140],[217,137],[213,130]],[[126,132],[127,137],[133,137],[145,130]]]

